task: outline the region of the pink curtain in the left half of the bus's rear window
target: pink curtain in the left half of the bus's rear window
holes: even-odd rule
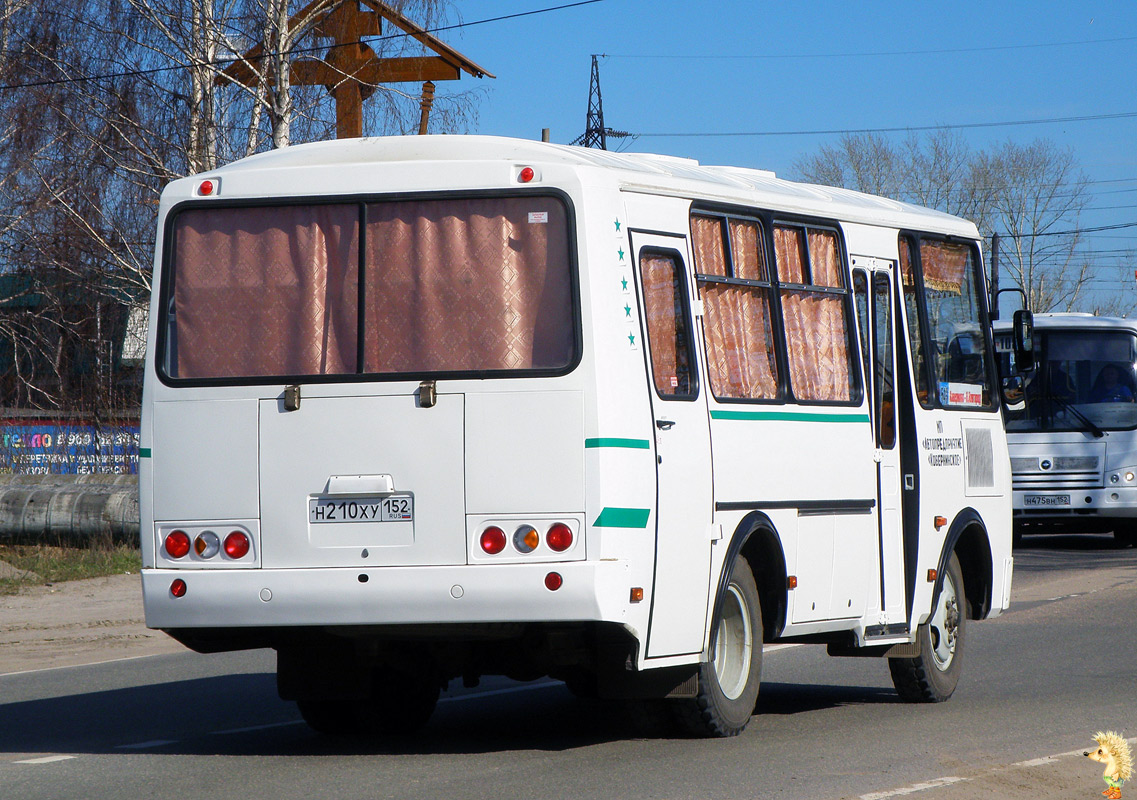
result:
[[[357,206],[179,214],[171,374],[355,372],[358,216]]]

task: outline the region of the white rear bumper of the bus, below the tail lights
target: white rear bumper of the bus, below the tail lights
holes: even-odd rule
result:
[[[550,591],[545,577],[563,578]],[[152,628],[298,627],[513,622],[630,623],[622,561],[376,567],[143,569]],[[186,584],[184,597],[171,591]],[[366,578],[366,580],[364,580]],[[647,603],[641,603],[639,609]]]

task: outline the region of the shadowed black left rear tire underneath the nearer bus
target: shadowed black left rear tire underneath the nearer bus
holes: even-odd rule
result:
[[[430,670],[409,674],[379,668],[365,698],[302,698],[300,716],[319,733],[333,736],[414,733],[438,705],[440,683]]]

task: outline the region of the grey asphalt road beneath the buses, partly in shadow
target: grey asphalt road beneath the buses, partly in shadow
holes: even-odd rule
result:
[[[555,683],[448,693],[418,736],[319,736],[271,652],[0,677],[0,798],[1087,798],[1098,730],[1137,733],[1137,550],[1027,538],[1011,611],[969,628],[948,702],[902,703],[877,659],[767,652],[721,741],[644,738]]]

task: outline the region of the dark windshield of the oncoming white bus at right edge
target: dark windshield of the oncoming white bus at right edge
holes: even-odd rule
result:
[[[1132,333],[1036,330],[1035,342],[1038,366],[1024,376],[1022,397],[1007,403],[1009,432],[1137,427]],[[999,358],[1004,375],[1014,375],[1010,353]]]

